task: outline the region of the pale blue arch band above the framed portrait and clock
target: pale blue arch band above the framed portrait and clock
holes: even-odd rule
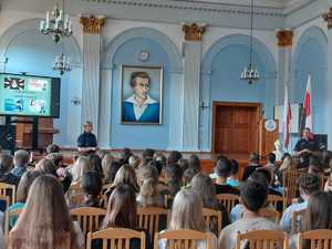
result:
[[[113,63],[114,55],[115,55],[116,51],[118,50],[118,48],[123,43],[125,43],[132,39],[135,39],[135,38],[148,38],[153,41],[156,41],[157,43],[159,43],[163,46],[163,49],[168,54],[168,58],[169,58],[173,69],[181,68],[180,53],[178,52],[176,45],[170,41],[170,39],[166,34],[159,32],[158,30],[151,29],[151,28],[144,28],[144,27],[128,29],[128,30],[120,33],[118,35],[116,35],[106,45],[106,49],[105,49],[104,55],[103,55],[103,60],[102,60],[103,64],[105,66],[112,68],[111,63]]]

